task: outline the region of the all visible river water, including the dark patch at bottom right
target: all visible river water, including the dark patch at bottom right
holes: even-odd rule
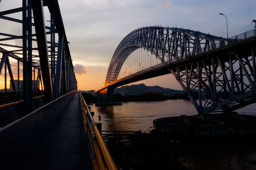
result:
[[[256,104],[251,104],[237,110],[237,113],[256,115],[255,108]],[[102,130],[105,131],[150,132],[153,129],[152,121],[157,118],[196,114],[193,104],[183,99],[128,102],[123,103],[122,106],[105,107],[97,107],[93,104],[91,110],[95,112],[95,120],[102,123]],[[254,143],[250,145],[226,143],[221,146],[202,144],[182,145],[178,148],[175,146],[178,150],[176,154],[186,160],[189,169],[256,169]]]

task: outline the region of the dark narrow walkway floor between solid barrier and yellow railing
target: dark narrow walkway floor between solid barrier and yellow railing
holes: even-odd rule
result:
[[[29,169],[92,169],[76,93]]]

